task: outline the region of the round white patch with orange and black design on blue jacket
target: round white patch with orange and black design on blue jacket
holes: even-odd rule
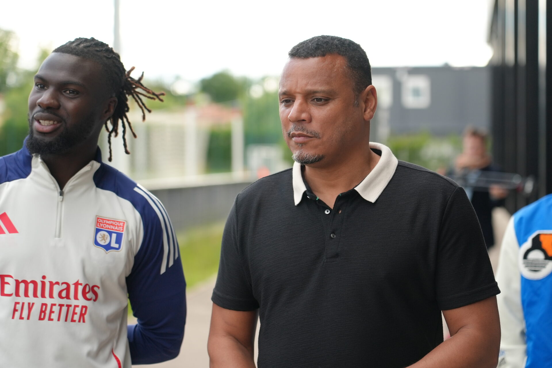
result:
[[[519,270],[529,280],[544,279],[552,272],[552,230],[535,231],[519,248]]]

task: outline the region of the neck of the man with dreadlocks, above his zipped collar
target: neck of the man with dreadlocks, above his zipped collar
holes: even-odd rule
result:
[[[78,147],[65,154],[41,156],[50,174],[55,178],[60,189],[63,190],[67,182],[79,170],[95,158],[97,143],[94,147]]]

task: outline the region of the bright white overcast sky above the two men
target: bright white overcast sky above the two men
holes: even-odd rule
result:
[[[0,28],[18,37],[20,66],[40,47],[76,37],[113,43],[113,0],[4,1]],[[120,0],[121,57],[148,78],[192,82],[228,69],[278,75],[286,53],[311,36],[358,42],[373,66],[484,66],[487,0]]]

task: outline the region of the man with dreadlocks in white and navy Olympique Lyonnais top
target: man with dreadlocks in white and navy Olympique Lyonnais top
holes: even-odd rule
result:
[[[0,158],[0,366],[126,367],[178,355],[185,281],[161,202],[102,163],[126,148],[129,96],[162,101],[95,39],[62,45],[29,96],[29,136]],[[134,134],[134,132],[132,132]],[[111,160],[111,144],[109,160]],[[126,326],[127,296],[138,323]]]

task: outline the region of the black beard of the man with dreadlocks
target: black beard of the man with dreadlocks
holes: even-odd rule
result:
[[[84,142],[94,130],[93,116],[86,117],[83,121],[69,128],[67,125],[52,139],[37,137],[33,131],[34,119],[29,114],[29,135],[26,139],[26,147],[31,155],[62,155],[68,153],[73,147]],[[62,121],[61,124],[65,124]]]

